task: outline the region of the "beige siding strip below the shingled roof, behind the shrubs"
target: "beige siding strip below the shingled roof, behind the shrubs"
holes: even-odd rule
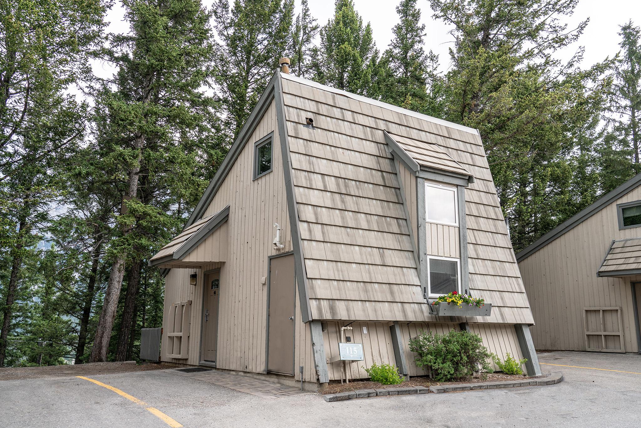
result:
[[[345,323],[328,321],[327,330],[323,332],[326,357],[329,359],[338,355],[338,342],[340,341],[340,327],[342,325],[345,325]],[[345,335],[350,336],[354,343],[363,344],[363,356],[365,357],[365,361],[354,361],[347,364],[347,373],[350,379],[367,378],[367,373],[363,367],[369,368],[372,363],[396,365],[389,323],[356,322],[351,324],[350,327],[353,327],[353,330],[345,330]],[[367,333],[363,332],[363,327],[367,329]],[[423,368],[419,368],[416,365],[416,354],[410,351],[410,339],[415,338],[422,331],[445,334],[449,330],[460,330],[459,325],[455,323],[401,323],[400,327],[403,352],[408,363],[408,374],[410,376],[428,374]],[[513,325],[472,324],[470,327],[472,332],[481,336],[483,345],[490,352],[494,352],[502,359],[505,358],[508,352],[515,358],[522,358],[519,341]],[[328,364],[330,380],[340,380],[341,366],[342,363],[338,362]],[[498,370],[498,368],[494,366],[494,370]]]

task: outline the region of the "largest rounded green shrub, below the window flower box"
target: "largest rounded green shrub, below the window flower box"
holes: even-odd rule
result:
[[[474,374],[479,368],[492,372],[490,353],[481,336],[467,331],[451,330],[447,334],[420,332],[410,339],[410,350],[416,352],[416,364],[431,370],[438,382],[458,381]]]

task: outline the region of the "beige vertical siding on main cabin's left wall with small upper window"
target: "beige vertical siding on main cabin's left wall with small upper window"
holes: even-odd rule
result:
[[[272,143],[273,170],[252,180],[253,143],[272,131],[275,133]],[[267,277],[269,255],[292,250],[280,153],[275,105],[272,101],[204,212],[205,217],[211,216],[230,205],[226,226],[220,228],[221,231],[226,228],[228,234],[228,259],[219,264],[222,266],[217,355],[217,366],[220,368],[258,373],[265,371],[267,286],[261,284],[260,280]],[[279,252],[272,248],[276,234],[274,223],[281,225],[281,242],[285,245]],[[208,241],[203,244],[207,246]],[[165,280],[165,305],[173,300],[192,300],[190,353],[187,361],[176,361],[178,363],[199,363],[202,277],[206,270],[206,266],[194,270],[199,276],[198,286],[188,285],[188,273],[192,270],[172,270]]]

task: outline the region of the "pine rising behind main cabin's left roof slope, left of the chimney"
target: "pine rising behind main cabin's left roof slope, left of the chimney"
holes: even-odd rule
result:
[[[293,0],[228,0],[213,5],[217,46],[217,83],[233,141],[278,69],[290,40]]]

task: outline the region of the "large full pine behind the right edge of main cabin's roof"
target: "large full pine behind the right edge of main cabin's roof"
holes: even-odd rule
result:
[[[477,128],[516,250],[594,200],[576,193],[576,168],[596,162],[603,76],[610,60],[582,71],[582,51],[567,62],[554,53],[587,25],[568,29],[577,0],[503,2],[431,0],[435,18],[453,26],[453,67],[445,75],[446,119]],[[592,88],[596,88],[593,90]],[[580,156],[576,153],[581,153]],[[594,171],[583,171],[594,178]],[[588,180],[588,181],[589,181]],[[568,202],[572,201],[568,205]]]

